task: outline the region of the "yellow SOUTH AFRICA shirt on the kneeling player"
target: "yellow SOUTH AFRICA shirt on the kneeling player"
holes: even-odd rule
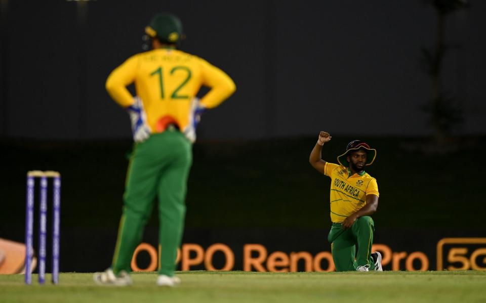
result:
[[[366,172],[353,174],[343,165],[326,162],[325,175],[331,177],[331,221],[341,223],[366,204],[367,195],[377,195],[376,179]],[[351,176],[350,176],[351,175]]]

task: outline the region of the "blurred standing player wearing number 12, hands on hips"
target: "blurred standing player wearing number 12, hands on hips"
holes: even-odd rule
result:
[[[160,224],[157,285],[180,283],[174,270],[183,234],[195,126],[204,109],[218,106],[235,91],[234,82],[222,70],[176,49],[183,35],[176,16],[156,15],[145,33],[152,50],[130,57],[106,80],[110,96],[130,114],[135,146],[113,262],[95,274],[99,284],[131,284],[132,255],[142,240],[155,197]],[[126,88],[133,82],[136,97]],[[199,101],[195,96],[201,85],[211,90]]]

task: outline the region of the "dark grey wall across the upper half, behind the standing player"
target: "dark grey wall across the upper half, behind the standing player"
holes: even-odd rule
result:
[[[315,134],[428,135],[432,98],[422,47],[436,14],[406,2],[120,2],[2,0],[0,134],[11,138],[127,138],[129,122],[104,90],[109,72],[141,51],[152,15],[182,19],[182,49],[221,67],[236,94],[207,114],[199,138]],[[446,18],[443,86],[465,122],[486,131],[486,4]],[[349,116],[366,120],[359,127]],[[224,127],[223,127],[224,125]]]

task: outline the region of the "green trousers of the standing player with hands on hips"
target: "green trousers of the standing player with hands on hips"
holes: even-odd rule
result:
[[[174,276],[186,212],[187,178],[192,164],[189,141],[177,129],[153,134],[136,144],[130,160],[124,208],[118,230],[112,269],[130,272],[135,248],[158,197],[159,275]]]

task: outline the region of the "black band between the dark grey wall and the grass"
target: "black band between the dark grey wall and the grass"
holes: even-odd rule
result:
[[[351,139],[333,138],[322,157],[335,161]],[[367,171],[377,178],[380,190],[378,211],[373,215],[374,243],[388,245],[396,253],[422,251],[429,258],[428,269],[434,270],[440,239],[486,235],[486,180],[481,166],[473,165],[486,149],[484,136],[460,139],[461,148],[447,153],[411,148],[427,139],[369,139],[378,155]],[[315,137],[197,142],[183,243],[205,249],[224,243],[236,254],[234,269],[240,270],[242,247],[248,243],[265,245],[268,253],[330,251],[326,240],[331,227],[330,179],[308,163],[314,144]],[[62,174],[62,271],[92,272],[107,267],[121,215],[130,148],[130,140],[0,142],[5,172],[0,174],[0,238],[24,241],[25,172],[56,169]],[[49,199],[49,211],[51,205]],[[36,227],[37,213],[34,218]],[[154,208],[144,241],[155,247],[157,227]],[[476,246],[469,247],[466,256]],[[218,252],[215,260],[221,261],[222,256]],[[444,256],[448,256],[447,250]],[[483,255],[477,256],[477,264],[486,267],[483,259]],[[406,269],[404,259],[400,264],[401,270]],[[392,269],[391,263],[385,269]]]

